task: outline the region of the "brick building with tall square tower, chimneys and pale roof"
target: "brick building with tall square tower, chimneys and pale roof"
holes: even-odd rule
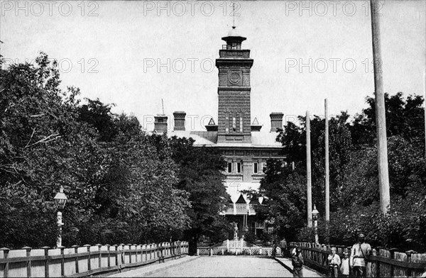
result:
[[[263,223],[256,223],[254,206],[263,199],[251,200],[243,190],[258,190],[261,179],[265,176],[266,160],[275,158],[283,160],[282,146],[276,142],[277,130],[283,128],[283,113],[271,113],[271,130],[262,130],[256,118],[251,121],[251,85],[250,73],[253,59],[250,50],[241,48],[246,38],[236,33],[233,27],[222,38],[226,42],[219,50],[216,67],[219,70],[219,111],[217,124],[213,118],[206,130],[185,130],[186,113],[173,113],[174,128],[168,131],[170,137],[192,138],[195,146],[219,148],[226,165],[226,191],[231,196],[229,206],[222,214],[238,226],[239,237],[250,230],[262,233]],[[168,117],[155,116],[154,130],[167,130]]]

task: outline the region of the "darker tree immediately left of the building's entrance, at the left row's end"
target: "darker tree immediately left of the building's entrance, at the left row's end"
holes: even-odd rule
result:
[[[158,150],[170,148],[171,157],[178,164],[176,187],[189,194],[190,228],[184,232],[190,242],[190,251],[196,252],[197,240],[206,235],[213,240],[224,240],[229,225],[219,215],[229,199],[223,184],[225,161],[217,150],[195,147],[192,138],[173,137],[165,141],[165,135],[152,135],[150,140]],[[165,157],[165,155],[163,155]]]

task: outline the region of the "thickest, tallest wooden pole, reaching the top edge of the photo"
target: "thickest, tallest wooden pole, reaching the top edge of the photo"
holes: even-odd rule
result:
[[[380,189],[380,206],[382,213],[387,213],[391,206],[389,193],[388,145],[386,139],[385,94],[383,89],[383,72],[381,59],[380,17],[376,11],[376,0],[370,0],[371,6],[371,37],[373,40],[374,91],[376,94],[376,126],[377,126],[377,157],[378,186]]]

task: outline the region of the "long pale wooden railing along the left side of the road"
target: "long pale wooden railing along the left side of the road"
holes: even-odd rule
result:
[[[82,277],[164,262],[188,254],[187,242],[77,245],[21,250],[0,248],[0,277]]]

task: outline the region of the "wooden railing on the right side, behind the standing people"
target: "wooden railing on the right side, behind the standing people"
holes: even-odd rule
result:
[[[343,252],[351,254],[351,246],[317,245],[315,243],[290,243],[302,249],[305,265],[322,273],[329,271],[327,257],[330,248],[337,248],[342,258]],[[397,252],[397,249],[386,250],[373,248],[366,263],[367,277],[419,277],[426,269],[426,254],[414,251]]]

